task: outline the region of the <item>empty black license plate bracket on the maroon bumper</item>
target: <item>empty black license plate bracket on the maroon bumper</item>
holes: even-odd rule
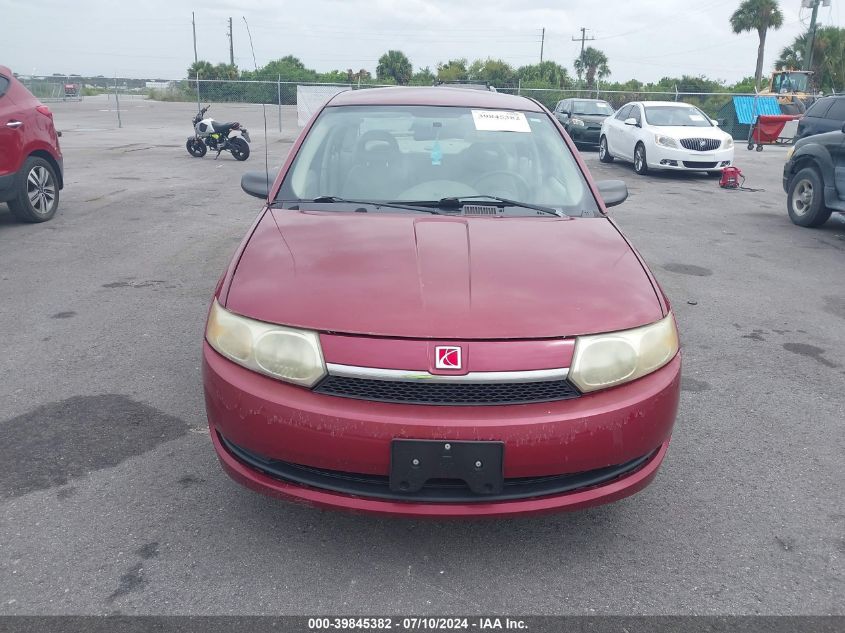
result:
[[[419,492],[431,479],[460,479],[479,495],[504,487],[502,442],[405,440],[390,444],[390,490]]]

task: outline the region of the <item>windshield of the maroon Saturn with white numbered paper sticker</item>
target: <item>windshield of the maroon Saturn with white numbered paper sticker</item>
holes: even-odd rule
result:
[[[575,158],[542,112],[399,105],[326,108],[276,199],[329,196],[381,202],[497,196],[567,215],[599,215]],[[326,210],[355,210],[341,201],[333,207]],[[520,210],[511,205],[505,212]],[[522,215],[526,212],[521,209]]]

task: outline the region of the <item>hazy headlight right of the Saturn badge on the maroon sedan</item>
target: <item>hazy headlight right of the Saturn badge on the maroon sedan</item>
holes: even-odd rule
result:
[[[660,369],[675,357],[678,347],[671,312],[632,330],[579,336],[569,380],[582,392],[621,385]]]

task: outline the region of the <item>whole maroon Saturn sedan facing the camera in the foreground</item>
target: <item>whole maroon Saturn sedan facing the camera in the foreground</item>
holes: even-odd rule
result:
[[[303,130],[220,279],[211,438],[260,492],[404,516],[621,499],[678,406],[669,302],[536,101],[341,93]]]

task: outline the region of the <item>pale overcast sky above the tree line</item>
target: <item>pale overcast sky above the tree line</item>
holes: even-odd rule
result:
[[[18,74],[180,79],[194,60],[229,58],[252,69],[285,55],[318,71],[365,68],[403,51],[414,69],[492,57],[515,67],[543,58],[570,69],[581,27],[609,59],[612,81],[707,75],[735,82],[754,74],[757,34],[735,35],[740,0],[0,0],[0,64]],[[845,0],[819,9],[822,25],[845,26]],[[766,72],[804,32],[810,12],[781,0],[784,26],[769,33]],[[244,20],[246,18],[246,21]],[[574,73],[572,73],[574,74]]]

